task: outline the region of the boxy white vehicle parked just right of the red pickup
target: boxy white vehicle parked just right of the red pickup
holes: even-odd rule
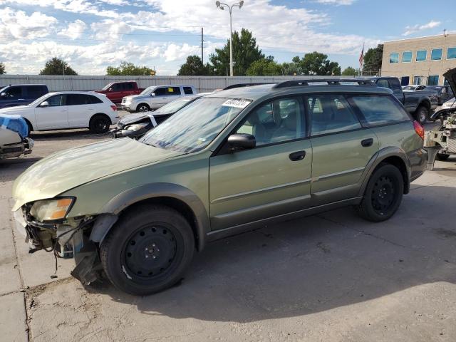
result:
[[[195,95],[196,93],[194,86],[151,86],[142,90],[140,95],[125,96],[122,99],[121,106],[123,110],[128,112],[148,112],[182,96]]]

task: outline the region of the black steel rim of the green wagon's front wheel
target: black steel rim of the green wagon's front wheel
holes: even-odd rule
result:
[[[125,244],[123,259],[128,274],[152,280],[165,274],[177,257],[177,240],[170,227],[147,225]]]

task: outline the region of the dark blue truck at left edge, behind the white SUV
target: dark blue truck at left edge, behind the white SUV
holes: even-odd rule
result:
[[[49,93],[45,84],[14,84],[0,88],[0,109],[28,105]]]

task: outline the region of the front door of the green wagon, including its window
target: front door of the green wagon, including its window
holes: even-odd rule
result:
[[[301,98],[281,98],[252,110],[234,133],[257,147],[209,161],[212,229],[296,212],[310,205],[312,148]]]

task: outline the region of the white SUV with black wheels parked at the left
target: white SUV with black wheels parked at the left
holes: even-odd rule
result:
[[[28,131],[90,128],[105,133],[119,120],[115,104],[103,94],[61,91],[48,93],[29,105],[4,108],[1,114],[21,115]]]

